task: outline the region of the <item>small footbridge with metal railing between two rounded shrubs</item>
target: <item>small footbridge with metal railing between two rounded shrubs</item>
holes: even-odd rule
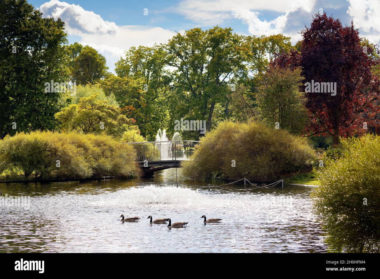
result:
[[[136,161],[146,177],[163,169],[177,168],[182,161],[191,160],[198,148],[195,140],[169,140],[165,142],[133,142],[128,143],[136,150]]]

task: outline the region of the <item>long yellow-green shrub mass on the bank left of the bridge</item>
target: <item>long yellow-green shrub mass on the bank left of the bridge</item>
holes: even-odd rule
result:
[[[106,135],[36,131],[0,141],[0,173],[26,178],[130,177],[138,173],[135,157],[132,147]]]

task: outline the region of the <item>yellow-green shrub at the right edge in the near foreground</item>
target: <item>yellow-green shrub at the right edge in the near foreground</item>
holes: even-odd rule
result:
[[[380,137],[342,141],[339,159],[320,168],[313,192],[335,252],[380,252]]]

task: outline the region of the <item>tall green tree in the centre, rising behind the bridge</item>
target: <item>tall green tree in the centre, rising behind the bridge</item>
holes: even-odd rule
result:
[[[226,102],[230,87],[246,73],[247,49],[231,28],[200,28],[177,33],[167,45],[172,76],[172,120],[206,120],[211,130],[215,104]]]

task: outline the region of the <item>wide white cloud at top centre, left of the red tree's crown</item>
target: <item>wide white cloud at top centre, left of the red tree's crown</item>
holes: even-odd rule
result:
[[[283,33],[296,43],[301,39],[298,32],[304,27],[304,23],[297,27],[292,25],[293,30],[290,30],[288,19],[302,12],[310,14],[316,2],[317,0],[186,0],[177,5],[176,12],[202,25],[216,25],[228,19],[239,19],[248,25],[251,35],[270,36]],[[280,15],[271,20],[261,20],[260,11]],[[296,28],[299,29],[295,31]]]

